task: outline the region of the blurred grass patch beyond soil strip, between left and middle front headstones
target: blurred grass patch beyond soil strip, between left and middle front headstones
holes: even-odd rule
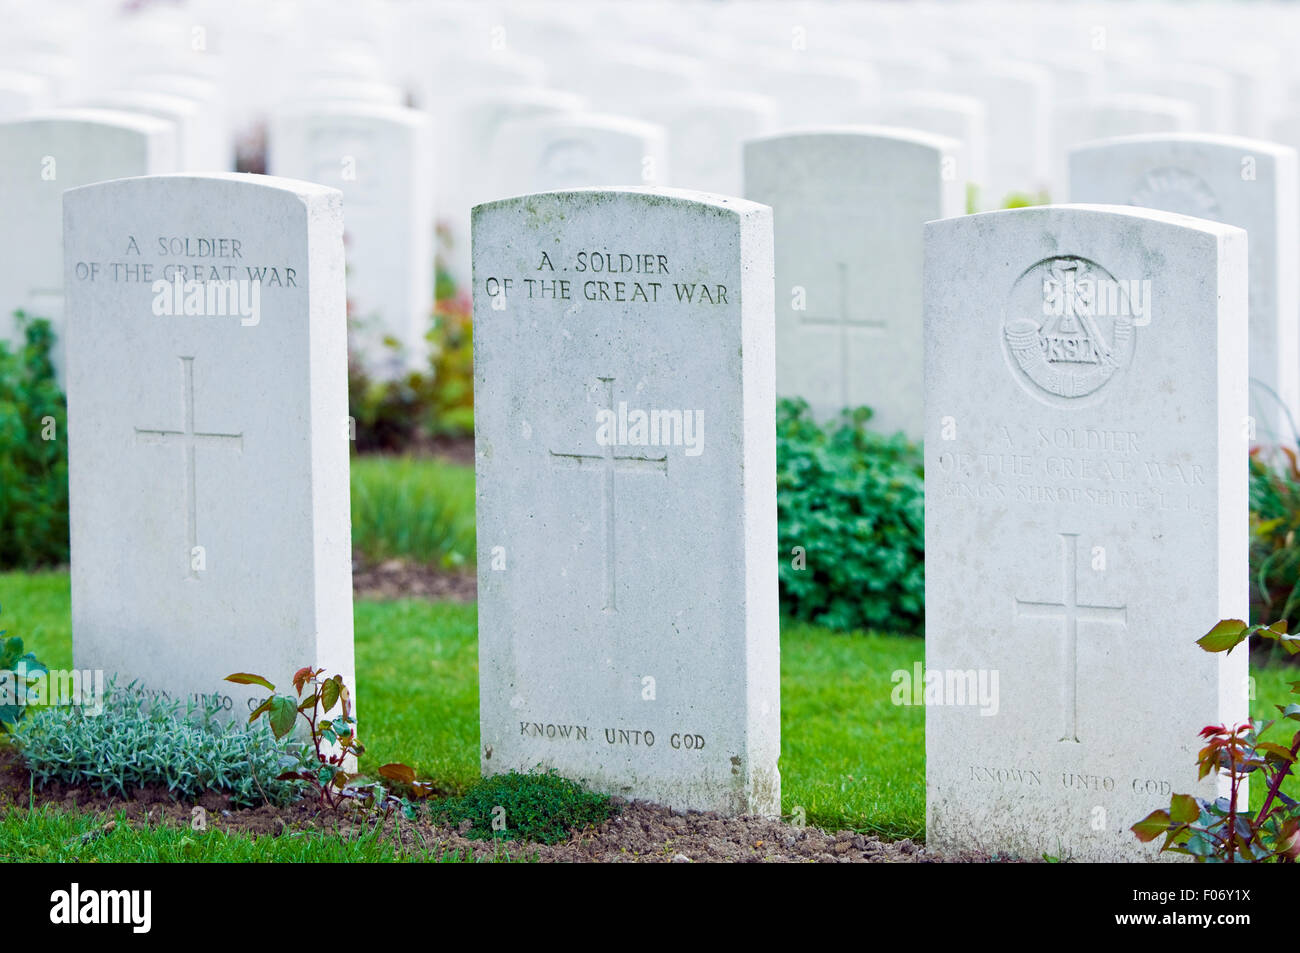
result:
[[[352,460],[352,547],[370,563],[474,563],[474,472],[442,460]]]

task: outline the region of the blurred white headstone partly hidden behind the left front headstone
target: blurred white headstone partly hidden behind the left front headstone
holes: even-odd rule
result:
[[[425,365],[433,321],[429,118],[404,107],[311,104],[276,114],[268,172],[343,192],[352,345],[372,373]],[[395,342],[396,348],[386,342]]]

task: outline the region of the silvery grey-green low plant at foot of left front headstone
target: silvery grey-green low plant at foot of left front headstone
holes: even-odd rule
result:
[[[13,732],[38,785],[62,781],[130,796],[165,787],[177,800],[214,790],[231,803],[282,805],[296,787],[277,780],[302,764],[300,746],[277,741],[265,725],[222,725],[214,707],[152,699],[131,683],[109,683],[104,710],[32,709]]]

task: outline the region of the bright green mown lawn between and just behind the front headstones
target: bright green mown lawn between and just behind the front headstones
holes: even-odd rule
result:
[[[0,573],[0,624],[10,634],[22,636],[27,647],[51,666],[70,667],[66,573]],[[478,776],[474,616],[472,605],[356,605],[359,716],[368,746],[363,768],[373,771],[385,762],[402,761],[458,792]],[[803,807],[809,823],[822,827],[853,827],[887,837],[923,836],[924,710],[896,707],[889,699],[890,673],[910,670],[922,655],[923,644],[911,637],[845,636],[811,625],[785,627],[785,814]],[[1253,711],[1269,716],[1271,705],[1286,698],[1287,683],[1296,672],[1269,667],[1254,676]],[[1262,790],[1254,785],[1252,802],[1257,806],[1261,798]],[[0,841],[6,840],[9,829],[17,837],[26,829],[23,824],[39,827],[42,822],[4,823],[9,827],[0,827]],[[173,855],[191,848],[170,839],[151,849]],[[384,858],[377,854],[370,859]]]

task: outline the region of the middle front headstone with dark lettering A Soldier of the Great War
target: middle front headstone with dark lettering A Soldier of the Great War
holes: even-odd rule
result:
[[[780,810],[771,211],[474,209],[482,770]]]

